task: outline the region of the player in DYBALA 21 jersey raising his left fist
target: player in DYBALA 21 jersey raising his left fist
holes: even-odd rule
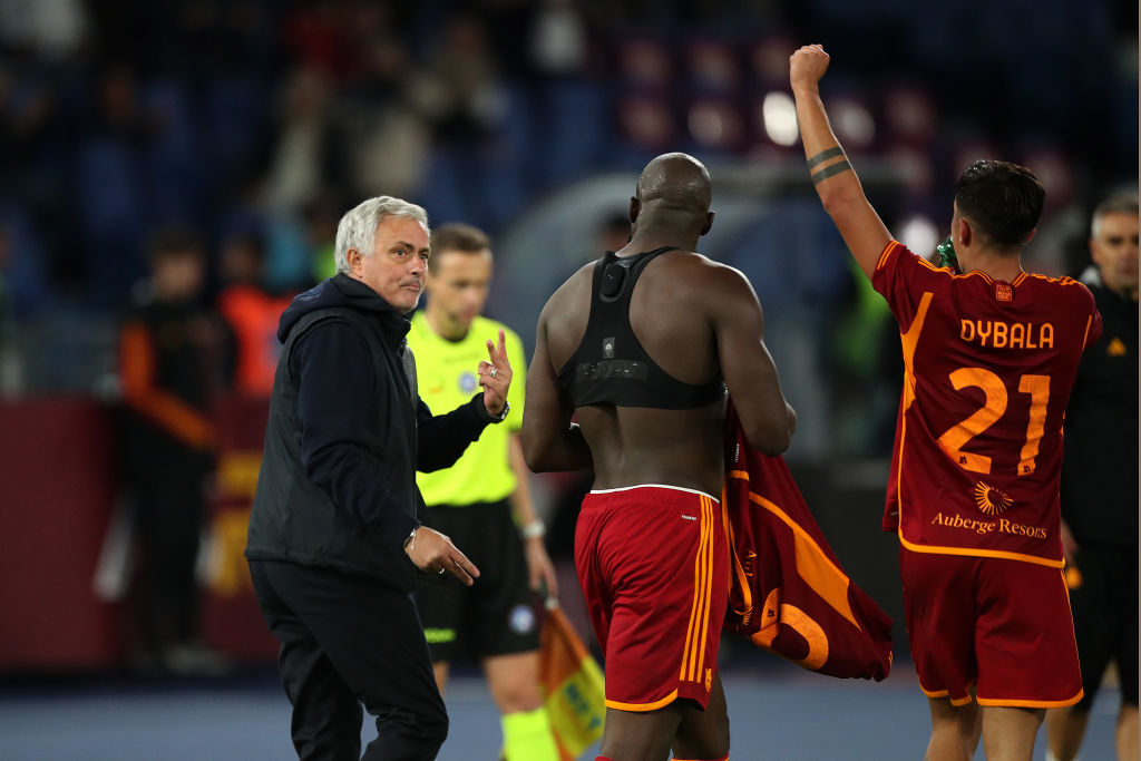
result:
[[[955,189],[958,272],[916,257],[868,203],[833,135],[818,44],[790,79],[812,183],[899,322],[904,390],[884,528],[898,533],[912,657],[931,711],[926,759],[1030,761],[1046,707],[1082,697],[1061,575],[1062,416],[1101,332],[1093,298],[1031,275],[1021,249],[1045,192],[977,161]]]

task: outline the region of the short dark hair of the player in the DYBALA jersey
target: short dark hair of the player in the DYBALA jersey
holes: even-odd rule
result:
[[[976,161],[955,186],[955,204],[979,233],[1001,248],[1026,243],[1038,226],[1046,191],[1026,167],[1008,161]]]

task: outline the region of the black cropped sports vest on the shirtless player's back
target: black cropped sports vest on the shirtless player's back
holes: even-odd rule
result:
[[[672,250],[664,246],[621,258],[607,251],[594,265],[586,333],[559,371],[559,383],[573,406],[693,410],[725,396],[720,373],[697,386],[679,381],[650,358],[630,327],[634,283],[646,265]]]

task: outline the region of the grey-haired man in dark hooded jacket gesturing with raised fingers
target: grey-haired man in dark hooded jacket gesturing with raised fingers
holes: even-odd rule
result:
[[[430,761],[447,736],[413,576],[470,585],[479,570],[416,520],[415,471],[451,465],[503,420],[511,366],[501,332],[479,363],[483,394],[438,416],[420,400],[404,315],[428,246],[423,209],[365,201],[338,226],[338,274],[297,297],[278,327],[245,554],[302,760],[356,760],[361,703],[379,732],[365,759]]]

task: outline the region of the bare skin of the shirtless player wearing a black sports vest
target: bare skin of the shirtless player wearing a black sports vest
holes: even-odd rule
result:
[[[713,225],[709,172],[691,156],[652,161],[630,200],[633,234],[617,251],[631,257],[673,246],[638,280],[630,325],[649,356],[687,383],[720,373],[745,435],[767,454],[787,448],[796,415],[784,399],[772,357],[764,347],[764,318],[748,281],[731,267],[694,253]],[[720,495],[725,478],[722,432],[726,405],[655,410],[593,405],[573,407],[558,371],[582,341],[590,316],[593,264],[570,276],[539,319],[535,357],[527,374],[523,447],[536,471],[593,467],[594,488],[664,484]],[[577,426],[572,416],[577,415]],[[729,723],[719,677],[705,711],[679,699],[645,713],[607,710],[602,754],[614,761],[720,758],[728,752]]]

